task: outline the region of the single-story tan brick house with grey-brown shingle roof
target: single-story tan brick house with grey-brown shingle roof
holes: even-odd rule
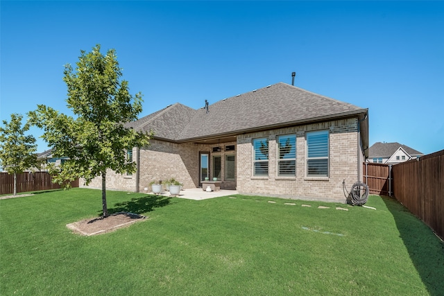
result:
[[[343,182],[350,191],[361,180],[368,156],[368,109],[282,82],[199,110],[176,103],[128,126],[154,137],[128,151],[136,173],[107,173],[110,189],[143,192],[171,177],[189,189],[217,177],[241,194],[345,201]]]

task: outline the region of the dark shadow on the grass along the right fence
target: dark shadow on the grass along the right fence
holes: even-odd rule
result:
[[[430,295],[444,293],[444,243],[431,229],[394,198],[382,197],[395,218],[410,259]]]

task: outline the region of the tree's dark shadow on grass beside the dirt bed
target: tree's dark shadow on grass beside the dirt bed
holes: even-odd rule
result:
[[[108,209],[108,214],[126,211],[133,214],[144,214],[153,211],[156,207],[165,207],[170,204],[171,198],[157,195],[144,195],[139,198],[131,198],[126,202],[114,204],[114,207]],[[101,211],[103,215],[103,211]]]

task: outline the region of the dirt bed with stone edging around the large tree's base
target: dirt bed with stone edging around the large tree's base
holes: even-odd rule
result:
[[[104,234],[122,227],[127,227],[145,218],[146,216],[138,214],[119,212],[106,218],[87,218],[80,220],[67,224],[67,227],[78,234],[93,236],[95,234]]]

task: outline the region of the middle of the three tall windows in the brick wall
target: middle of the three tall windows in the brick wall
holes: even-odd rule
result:
[[[296,175],[296,134],[278,137],[278,175]]]

